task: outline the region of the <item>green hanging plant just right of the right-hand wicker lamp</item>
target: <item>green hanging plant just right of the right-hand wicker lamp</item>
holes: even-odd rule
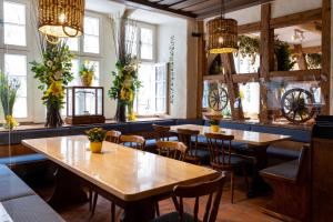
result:
[[[255,63],[255,58],[260,52],[260,39],[248,36],[239,37],[239,53],[241,57],[249,57],[251,64]]]

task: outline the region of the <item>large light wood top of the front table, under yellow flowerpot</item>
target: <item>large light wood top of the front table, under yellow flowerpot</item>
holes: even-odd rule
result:
[[[85,135],[23,140],[22,144],[124,201],[172,191],[175,184],[213,179],[218,172],[104,141],[91,153]]]

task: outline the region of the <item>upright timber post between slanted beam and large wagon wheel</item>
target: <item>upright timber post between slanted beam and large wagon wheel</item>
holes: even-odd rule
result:
[[[260,41],[260,121],[269,120],[268,85],[270,71],[274,69],[274,30],[270,29],[271,4],[261,6]]]

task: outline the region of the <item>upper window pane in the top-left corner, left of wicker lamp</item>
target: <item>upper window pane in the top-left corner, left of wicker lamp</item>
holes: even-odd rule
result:
[[[26,4],[3,2],[4,44],[27,46]]]

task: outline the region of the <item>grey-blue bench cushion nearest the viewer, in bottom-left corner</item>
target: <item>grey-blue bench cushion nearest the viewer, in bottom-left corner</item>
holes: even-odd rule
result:
[[[64,222],[53,209],[36,194],[8,200],[2,204],[13,221]]]

